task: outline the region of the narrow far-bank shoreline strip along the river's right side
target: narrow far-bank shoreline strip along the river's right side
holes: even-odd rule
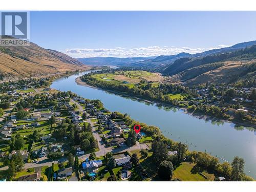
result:
[[[162,104],[162,105],[165,105],[165,106],[171,106],[171,107],[174,107],[174,108],[177,108],[177,109],[180,109],[182,110],[185,114],[188,114],[188,115],[191,115],[193,117],[196,117],[198,119],[204,119],[204,120],[212,120],[212,121],[219,121],[219,122],[226,122],[226,123],[232,123],[232,124],[237,124],[237,125],[240,125],[240,126],[244,126],[244,127],[252,127],[253,129],[256,129],[255,125],[251,125],[251,124],[247,124],[247,123],[243,123],[243,122],[238,122],[238,121],[230,121],[230,120],[225,120],[225,119],[220,119],[220,118],[217,118],[217,117],[211,117],[211,116],[207,116],[205,114],[195,114],[195,113],[191,113],[191,112],[188,112],[185,108],[180,108],[179,106],[174,106],[174,105],[171,105],[171,104],[168,104],[168,103],[163,103],[163,102],[159,102],[159,101],[154,101],[154,100],[146,100],[144,98],[140,98],[140,97],[137,97],[137,96],[131,96],[129,94],[125,94],[125,93],[122,93],[122,92],[119,92],[119,91],[112,91],[112,90],[106,90],[106,89],[101,89],[101,88],[98,88],[98,87],[94,87],[94,86],[91,86],[90,84],[87,84],[86,82],[83,82],[81,80],[80,77],[77,77],[75,79],[75,82],[80,85],[80,86],[84,86],[84,87],[89,87],[89,88],[93,88],[93,89],[98,89],[98,90],[103,90],[103,91],[108,91],[110,93],[114,93],[114,94],[120,94],[120,95],[123,95],[123,96],[127,96],[127,97],[134,97],[134,98],[137,98],[137,99],[143,99],[144,101],[151,101],[151,102],[154,102],[155,104]]]

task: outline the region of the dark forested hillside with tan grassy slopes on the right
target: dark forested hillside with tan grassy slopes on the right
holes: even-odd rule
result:
[[[236,82],[255,78],[256,46],[231,53],[206,56],[198,59],[176,60],[163,73],[170,75],[173,82],[188,85],[205,82]]]

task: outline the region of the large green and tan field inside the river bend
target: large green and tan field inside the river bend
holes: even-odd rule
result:
[[[153,85],[157,86],[158,82],[161,82],[164,78],[159,73],[151,73],[147,71],[124,71],[115,72],[115,74],[95,74],[94,78],[101,81],[111,81],[117,84],[127,84],[127,86],[133,87],[135,83],[141,80],[153,81]]]

